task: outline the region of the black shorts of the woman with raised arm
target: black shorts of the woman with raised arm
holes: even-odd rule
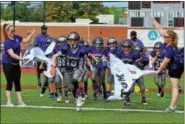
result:
[[[169,69],[168,74],[169,74],[169,76],[170,76],[171,78],[178,78],[178,79],[180,79],[181,76],[182,76],[182,74],[183,74],[183,72],[184,72],[184,68]]]

